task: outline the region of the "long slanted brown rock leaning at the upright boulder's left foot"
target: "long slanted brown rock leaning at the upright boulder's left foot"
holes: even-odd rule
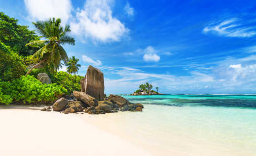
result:
[[[85,104],[88,104],[90,106],[97,106],[98,105],[98,100],[95,98],[91,97],[90,95],[84,93],[84,92],[77,92],[73,91],[74,96],[84,102]]]

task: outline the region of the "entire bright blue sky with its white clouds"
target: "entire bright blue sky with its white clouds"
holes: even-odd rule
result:
[[[31,30],[50,17],[70,25],[66,52],[79,75],[104,73],[105,93],[145,82],[170,94],[256,93],[255,0],[0,0],[0,11]]]

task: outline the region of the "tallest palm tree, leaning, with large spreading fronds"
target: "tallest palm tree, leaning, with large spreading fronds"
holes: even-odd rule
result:
[[[41,60],[26,75],[43,62],[52,65],[54,69],[59,69],[61,61],[67,63],[68,59],[68,55],[62,45],[74,45],[74,38],[67,34],[71,31],[70,26],[66,25],[63,28],[59,18],[50,18],[47,21],[37,21],[37,23],[33,22],[33,25],[45,40],[36,40],[26,44],[26,46],[30,47],[40,47],[33,54],[33,57],[38,57]]]

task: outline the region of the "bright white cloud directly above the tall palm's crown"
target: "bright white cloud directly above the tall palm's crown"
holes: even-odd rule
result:
[[[65,25],[72,16],[71,0],[24,0],[24,2],[33,21],[58,17]]]

